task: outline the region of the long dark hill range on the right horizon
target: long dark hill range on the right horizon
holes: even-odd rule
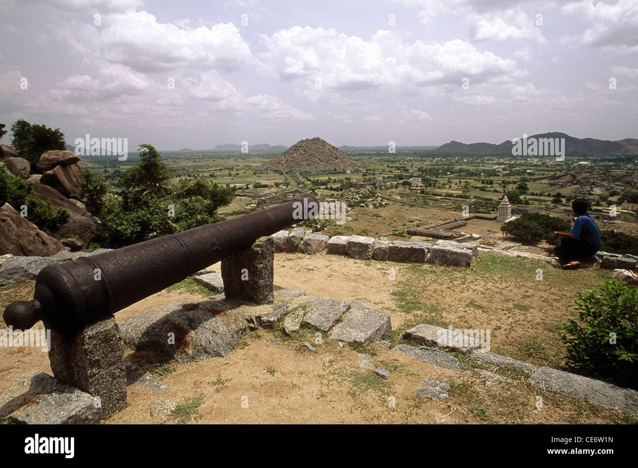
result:
[[[522,135],[521,135],[522,136]],[[601,155],[638,154],[638,139],[625,138],[609,141],[595,138],[575,138],[566,133],[548,132],[528,136],[530,138],[565,138],[565,155]],[[473,155],[512,155],[512,140],[505,140],[499,145],[493,143],[461,143],[450,141],[441,145],[435,153],[473,154]]]

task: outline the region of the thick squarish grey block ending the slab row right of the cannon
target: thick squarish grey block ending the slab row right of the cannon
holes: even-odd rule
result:
[[[350,309],[343,317],[343,322],[334,327],[330,337],[361,346],[367,346],[373,341],[390,340],[390,316],[375,309]]]

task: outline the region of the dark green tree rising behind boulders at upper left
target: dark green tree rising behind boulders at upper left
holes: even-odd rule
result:
[[[46,125],[31,125],[23,119],[11,125],[11,146],[20,157],[37,164],[40,156],[49,150],[65,150],[66,142],[60,129],[50,129]]]

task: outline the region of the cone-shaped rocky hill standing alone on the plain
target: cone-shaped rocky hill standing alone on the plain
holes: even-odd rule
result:
[[[262,168],[285,173],[347,172],[356,169],[357,164],[338,148],[317,136],[297,141],[279,156],[262,164]]]

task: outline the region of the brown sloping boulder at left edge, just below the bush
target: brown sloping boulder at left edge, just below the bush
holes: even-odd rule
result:
[[[64,247],[59,241],[38,229],[28,218],[20,216],[10,204],[0,207],[0,255],[12,253],[48,257],[61,250]]]

